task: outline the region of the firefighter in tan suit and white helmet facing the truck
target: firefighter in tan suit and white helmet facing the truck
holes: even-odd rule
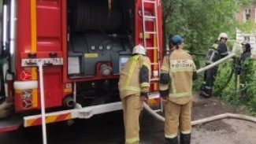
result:
[[[124,112],[125,143],[139,144],[139,114],[150,88],[150,59],[143,46],[133,48],[121,71],[118,88]]]

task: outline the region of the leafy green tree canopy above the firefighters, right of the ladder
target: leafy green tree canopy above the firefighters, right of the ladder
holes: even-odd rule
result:
[[[167,38],[173,34],[184,35],[187,49],[206,52],[221,32],[235,38],[239,7],[250,5],[252,0],[163,0],[163,20]],[[250,27],[249,24],[248,27]],[[248,28],[247,28],[248,29]],[[165,37],[166,38],[166,37]]]

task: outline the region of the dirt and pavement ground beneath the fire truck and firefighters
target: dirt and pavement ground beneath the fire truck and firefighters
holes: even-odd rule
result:
[[[222,113],[243,113],[234,106],[224,105],[217,98],[195,96],[192,119]],[[124,144],[122,113],[107,113],[89,120],[75,120],[47,125],[48,144]],[[164,144],[164,123],[143,111],[140,138],[144,144]],[[21,128],[0,134],[1,144],[41,144],[41,127]],[[243,120],[217,120],[193,127],[191,144],[256,144],[256,124]]]

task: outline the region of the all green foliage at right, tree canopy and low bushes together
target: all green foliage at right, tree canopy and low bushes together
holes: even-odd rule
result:
[[[162,0],[164,40],[172,35],[184,35],[186,49],[193,53],[206,54],[210,45],[221,32],[228,34],[229,39],[236,39],[236,29],[243,32],[254,32],[254,20],[247,23],[236,21],[236,13],[250,7],[254,0]],[[241,54],[241,45],[236,40],[229,40],[228,47]],[[165,46],[165,45],[164,45]],[[204,57],[194,57],[197,68],[204,65]],[[215,81],[214,93],[232,104],[247,104],[256,109],[256,62],[247,61],[247,99],[241,99],[235,91],[235,64],[227,61],[221,64]],[[194,84],[198,90],[202,75]],[[240,90],[238,83],[237,90]],[[242,87],[242,86],[241,86]]]

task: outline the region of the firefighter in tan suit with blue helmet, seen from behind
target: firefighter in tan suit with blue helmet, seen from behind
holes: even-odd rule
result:
[[[196,79],[195,63],[183,50],[180,35],[171,39],[173,49],[164,57],[160,75],[160,95],[165,102],[165,144],[191,142],[192,83]]]

